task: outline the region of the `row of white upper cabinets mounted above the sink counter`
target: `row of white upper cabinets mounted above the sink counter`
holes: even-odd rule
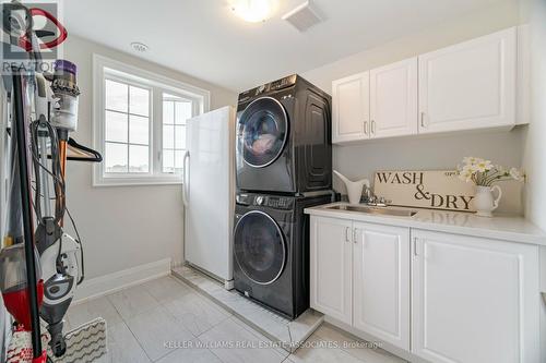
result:
[[[332,82],[332,142],[526,123],[522,39],[512,27]]]

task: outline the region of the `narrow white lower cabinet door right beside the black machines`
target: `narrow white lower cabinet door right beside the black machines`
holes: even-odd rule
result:
[[[311,307],[352,322],[352,221],[311,216]]]

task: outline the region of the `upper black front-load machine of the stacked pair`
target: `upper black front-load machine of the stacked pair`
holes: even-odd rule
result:
[[[237,189],[308,193],[332,187],[332,98],[297,74],[239,95]]]

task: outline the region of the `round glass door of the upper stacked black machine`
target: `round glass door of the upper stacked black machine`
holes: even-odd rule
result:
[[[283,105],[271,97],[252,101],[239,118],[239,150],[245,161],[263,168],[275,161],[286,143],[288,118]]]

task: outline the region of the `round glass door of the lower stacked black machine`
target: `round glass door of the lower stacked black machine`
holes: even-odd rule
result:
[[[283,233],[262,211],[249,211],[240,218],[235,228],[234,250],[239,267],[257,283],[272,283],[283,273],[286,262]]]

